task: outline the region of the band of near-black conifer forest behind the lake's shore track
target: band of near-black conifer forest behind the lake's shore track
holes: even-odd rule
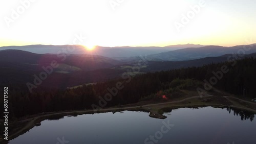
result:
[[[37,114],[41,112],[92,109],[92,104],[99,106],[99,100],[112,99],[102,104],[104,107],[136,103],[149,95],[156,95],[159,91],[169,92],[175,87],[174,82],[188,79],[188,84],[197,86],[194,81],[209,81],[215,75],[212,71],[219,71],[226,65],[228,73],[223,74],[223,78],[213,85],[221,90],[241,95],[242,97],[254,98],[256,89],[256,59],[246,58],[234,62],[209,64],[202,67],[189,67],[156,73],[147,73],[132,77],[124,74],[122,78],[96,85],[84,85],[76,89],[51,89],[37,88],[30,93],[27,88],[9,87],[9,112],[10,118],[25,115]],[[113,92],[117,88],[116,84],[121,82],[122,89],[117,94]],[[120,83],[119,83],[120,84]],[[186,88],[184,85],[183,88]],[[202,84],[200,86],[203,88]],[[110,92],[112,90],[112,93]],[[171,97],[171,96],[169,96]],[[3,98],[1,98],[3,99]],[[3,113],[3,112],[2,112]]]

